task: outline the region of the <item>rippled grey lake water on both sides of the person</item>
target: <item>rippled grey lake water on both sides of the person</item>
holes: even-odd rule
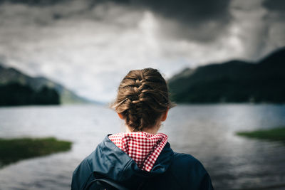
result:
[[[285,189],[284,144],[235,135],[281,125],[285,105],[178,105],[160,132],[176,152],[204,164],[215,189]],[[73,147],[0,169],[0,189],[70,189],[81,160],[106,134],[123,130],[123,121],[103,105],[1,107],[0,137],[52,136],[72,141]]]

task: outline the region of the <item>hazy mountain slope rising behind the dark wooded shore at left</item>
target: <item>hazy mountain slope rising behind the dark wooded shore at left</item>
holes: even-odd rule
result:
[[[60,95],[61,103],[87,103],[90,102],[83,97],[79,97],[71,90],[64,88],[63,85],[53,82],[48,78],[43,77],[31,77],[15,68],[5,68],[0,64],[0,85],[7,85],[11,83],[19,83],[26,85],[32,90],[40,91],[42,88],[47,87],[56,90]]]

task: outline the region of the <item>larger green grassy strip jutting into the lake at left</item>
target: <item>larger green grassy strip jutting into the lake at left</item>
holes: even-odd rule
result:
[[[54,137],[0,139],[0,167],[21,159],[68,151],[71,149],[71,144],[71,142],[61,141]]]

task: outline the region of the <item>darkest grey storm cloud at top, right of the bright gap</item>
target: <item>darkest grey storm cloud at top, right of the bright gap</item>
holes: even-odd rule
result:
[[[228,0],[110,0],[118,4],[148,9],[162,19],[162,34],[167,37],[208,42],[227,31],[231,20]]]

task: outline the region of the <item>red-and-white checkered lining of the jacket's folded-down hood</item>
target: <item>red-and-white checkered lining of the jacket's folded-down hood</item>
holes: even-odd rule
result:
[[[138,167],[150,171],[167,143],[167,135],[163,133],[127,132],[109,136],[109,139],[123,152],[135,160]]]

